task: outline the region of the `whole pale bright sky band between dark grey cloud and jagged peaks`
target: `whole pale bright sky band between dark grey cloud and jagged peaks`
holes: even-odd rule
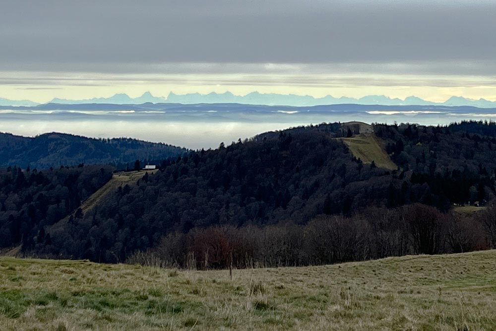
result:
[[[0,72],[0,77],[4,73]],[[10,73],[14,75],[14,73]],[[17,74],[30,77],[29,72]],[[323,97],[360,98],[386,95],[404,99],[417,96],[427,101],[443,102],[451,96],[496,101],[496,82],[491,77],[425,76],[380,74],[144,74],[102,75],[97,73],[67,75],[33,74],[35,83],[0,85],[0,97],[46,103],[53,98],[90,99],[126,93],[138,97],[149,91],[154,96],[230,91],[246,95],[260,93],[297,94]],[[33,79],[31,79],[33,80]],[[27,81],[31,81],[27,80]],[[442,86],[448,82],[451,86]]]

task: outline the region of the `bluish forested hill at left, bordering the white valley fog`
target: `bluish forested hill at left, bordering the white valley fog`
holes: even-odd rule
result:
[[[130,138],[95,139],[55,132],[31,138],[0,133],[0,167],[48,169],[84,163],[125,168],[135,160],[166,159],[184,152],[184,148]]]

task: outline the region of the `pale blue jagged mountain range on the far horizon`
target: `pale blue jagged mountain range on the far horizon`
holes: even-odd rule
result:
[[[156,97],[150,92],[146,92],[137,98],[131,98],[127,94],[119,93],[109,98],[92,98],[83,100],[67,100],[55,98],[51,104],[143,104],[143,103],[179,103],[179,104],[199,104],[199,103],[239,103],[251,105],[280,105],[280,106],[317,106],[317,105],[334,105],[334,104],[358,104],[358,105],[384,105],[384,106],[472,106],[478,108],[496,108],[496,101],[486,99],[469,99],[461,96],[453,96],[445,102],[431,102],[423,100],[416,96],[409,96],[404,100],[399,98],[390,98],[384,95],[369,95],[362,98],[336,98],[326,95],[322,98],[315,98],[310,95],[296,94],[276,94],[276,93],[259,93],[251,92],[247,95],[234,95],[231,92],[225,93],[189,93],[175,94],[170,92],[167,97]],[[8,100],[0,98],[0,106],[35,106],[37,103],[22,100]]]

